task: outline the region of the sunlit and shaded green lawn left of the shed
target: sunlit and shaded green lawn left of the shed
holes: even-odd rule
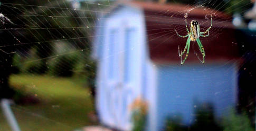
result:
[[[40,100],[38,104],[12,106],[21,130],[73,130],[97,124],[89,118],[94,111],[91,95],[78,78],[12,75],[10,85]],[[0,130],[10,130],[0,113]]]

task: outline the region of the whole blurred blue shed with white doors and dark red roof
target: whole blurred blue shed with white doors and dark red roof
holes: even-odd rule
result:
[[[178,46],[185,47],[184,14],[206,30],[213,16],[209,37],[200,38],[206,53],[202,64],[191,42],[184,65]],[[96,26],[92,56],[98,62],[97,110],[102,124],[132,128],[130,105],[143,98],[148,103],[147,130],[164,128],[167,117],[195,122],[195,110],[210,103],[216,118],[234,107],[238,94],[238,47],[229,16],[207,8],[156,3],[117,3]]]

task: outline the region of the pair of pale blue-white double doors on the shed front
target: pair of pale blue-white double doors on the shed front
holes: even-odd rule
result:
[[[107,64],[107,110],[112,126],[128,130],[131,127],[131,104],[139,97],[139,67],[137,29],[124,26],[110,28]]]

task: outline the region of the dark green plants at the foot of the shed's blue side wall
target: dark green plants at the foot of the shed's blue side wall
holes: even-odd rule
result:
[[[229,116],[222,118],[222,121],[217,122],[214,118],[213,108],[211,105],[203,104],[197,108],[196,118],[191,126],[181,125],[182,118],[168,118],[165,130],[167,131],[183,131],[183,130],[224,130],[224,131],[239,131],[254,130],[251,126],[249,117],[245,114],[237,114],[235,110],[231,110]]]

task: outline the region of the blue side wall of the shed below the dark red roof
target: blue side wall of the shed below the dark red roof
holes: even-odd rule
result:
[[[183,124],[194,122],[198,103],[210,103],[216,116],[222,116],[236,102],[235,65],[194,65],[158,67],[158,128],[167,116],[182,117]]]

